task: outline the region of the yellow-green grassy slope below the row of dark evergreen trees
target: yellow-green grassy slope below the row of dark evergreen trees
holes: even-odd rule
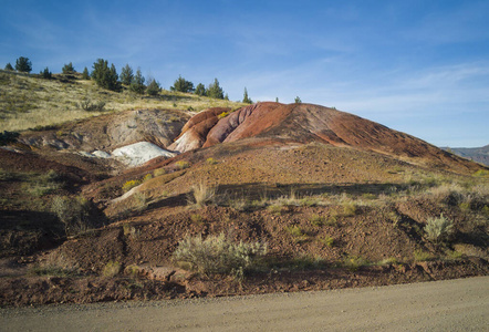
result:
[[[43,80],[37,75],[0,71],[0,132],[24,131],[127,110],[175,108],[198,112],[215,106],[237,108],[243,105],[166,90],[155,97],[142,96],[127,90],[117,93],[103,90],[93,81],[53,76],[53,80]],[[83,111],[80,103],[84,100],[104,102],[104,112]]]

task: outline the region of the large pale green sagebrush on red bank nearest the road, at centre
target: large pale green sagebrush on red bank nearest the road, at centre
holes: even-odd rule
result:
[[[185,238],[178,243],[173,259],[204,274],[232,274],[251,269],[266,253],[266,243],[237,243],[220,234],[206,239],[201,236]]]

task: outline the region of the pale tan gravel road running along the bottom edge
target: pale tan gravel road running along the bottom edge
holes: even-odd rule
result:
[[[489,277],[382,288],[1,309],[1,331],[488,331]]]

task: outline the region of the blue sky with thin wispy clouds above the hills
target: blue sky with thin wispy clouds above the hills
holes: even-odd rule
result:
[[[438,146],[489,144],[489,1],[2,0],[0,66],[96,59],[169,89],[334,106]]]

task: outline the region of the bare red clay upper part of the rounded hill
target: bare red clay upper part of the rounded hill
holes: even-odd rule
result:
[[[169,148],[184,153],[251,137],[275,143],[320,142],[408,158],[461,173],[477,170],[474,163],[419,138],[350,113],[313,104],[264,102],[235,112],[221,107],[209,108],[193,116]]]

